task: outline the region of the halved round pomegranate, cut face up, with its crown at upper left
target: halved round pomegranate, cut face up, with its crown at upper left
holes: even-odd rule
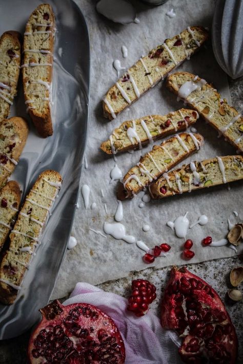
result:
[[[113,320],[95,306],[62,306],[57,300],[40,310],[42,321],[29,341],[30,363],[124,363],[125,347]]]

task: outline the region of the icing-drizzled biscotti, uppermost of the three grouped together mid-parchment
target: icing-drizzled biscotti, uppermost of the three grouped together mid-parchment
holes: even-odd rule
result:
[[[180,109],[167,115],[149,115],[140,119],[125,121],[115,129],[109,140],[100,145],[107,154],[116,154],[129,149],[141,149],[177,131],[193,125],[198,118],[193,110]]]

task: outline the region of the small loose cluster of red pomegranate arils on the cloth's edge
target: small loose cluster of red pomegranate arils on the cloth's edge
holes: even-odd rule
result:
[[[127,309],[137,317],[144,316],[156,298],[155,292],[156,287],[147,280],[132,281],[132,294],[128,298]]]

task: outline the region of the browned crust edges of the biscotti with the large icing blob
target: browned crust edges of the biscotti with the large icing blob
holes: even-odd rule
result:
[[[189,73],[189,72],[175,72],[175,73],[172,73],[172,74],[170,74],[168,77],[167,77],[167,80],[166,80],[166,86],[167,86],[167,88],[171,91],[171,92],[173,92],[175,95],[177,95],[178,94],[178,88],[175,86],[175,83],[174,83],[174,77],[179,77],[179,76],[188,76],[188,77],[190,77],[191,79],[193,79],[194,77],[195,77],[195,75],[193,75],[193,74],[191,74],[191,73]],[[200,77],[198,77],[197,78],[198,80],[200,80],[201,78]],[[207,84],[209,84],[208,82],[207,82]],[[209,84],[210,85],[210,84]],[[211,85],[210,85],[210,87],[211,87]],[[220,98],[221,98],[221,96],[220,96],[220,94],[214,89],[214,94],[216,95],[216,97],[220,100]],[[205,113],[202,113],[202,112],[200,112],[199,110],[197,110],[196,108],[195,108],[195,106],[193,105],[193,103],[190,103],[190,101],[187,101],[187,104],[191,107],[191,108],[193,108],[194,110],[196,110],[197,112],[198,112],[198,114],[202,117],[202,118],[204,118],[205,120],[206,120],[206,122],[208,123],[208,124],[210,124],[217,132],[219,132],[219,133],[221,133],[221,134],[223,134],[224,135],[224,133],[222,133],[219,129],[218,129],[218,127],[212,122],[212,120],[209,118],[209,117],[207,117],[207,114],[205,114]],[[235,109],[235,108],[233,108],[233,106],[230,106],[229,104],[228,104],[228,102],[226,102],[226,100],[224,99],[224,106],[227,106],[227,109],[228,110],[231,110],[232,111],[232,113],[236,113],[236,115],[238,114],[238,112],[237,112],[237,110]],[[242,120],[242,122],[243,122],[243,117],[241,116],[241,120]],[[239,149],[241,152],[243,152],[243,149],[238,145],[238,144],[236,144],[235,142],[234,142],[234,140],[232,139],[232,138],[229,138],[228,136],[226,136],[226,135],[224,135],[224,137],[225,137],[225,139],[230,143],[230,144],[232,144],[237,150]]]

